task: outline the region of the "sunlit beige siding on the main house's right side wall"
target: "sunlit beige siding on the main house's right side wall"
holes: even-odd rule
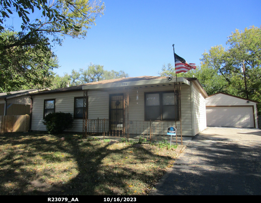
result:
[[[193,84],[193,122],[194,122],[194,135],[205,130],[207,127],[205,98],[194,84]]]

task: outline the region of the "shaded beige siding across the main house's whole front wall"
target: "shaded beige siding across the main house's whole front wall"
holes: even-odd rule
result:
[[[155,86],[147,88],[138,88],[139,100],[136,100],[137,88],[130,88],[125,90],[114,91],[88,91],[88,119],[108,119],[109,118],[109,95],[120,94],[129,91],[129,126],[130,133],[149,132],[149,121],[144,121],[144,92],[155,91],[171,91],[174,90],[174,85]],[[43,125],[43,105],[45,99],[55,99],[55,112],[70,112],[74,113],[74,97],[82,97],[83,91],[55,93],[33,96],[33,116],[32,116],[32,130],[45,131],[46,127]],[[190,86],[181,85],[181,118],[182,118],[182,135],[192,136],[192,114],[190,101]],[[132,124],[130,124],[132,121]],[[136,126],[135,126],[136,125]],[[175,121],[165,122],[159,128],[159,122],[152,121],[152,128],[156,130],[156,134],[166,132],[168,125],[175,126]],[[74,119],[74,127],[68,131],[82,131],[82,119]],[[144,126],[144,128],[143,128]],[[146,127],[148,126],[148,128]],[[154,130],[154,131],[155,131]],[[177,135],[180,135],[180,121],[177,121]]]

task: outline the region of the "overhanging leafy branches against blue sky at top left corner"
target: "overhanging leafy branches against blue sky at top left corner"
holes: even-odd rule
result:
[[[37,9],[36,9],[37,8]],[[30,21],[30,12],[38,10],[40,17]],[[97,16],[103,14],[104,3],[89,0],[2,0],[0,1],[0,23],[4,23],[13,12],[22,18],[22,31],[15,43],[4,48],[21,46],[24,44],[40,44],[42,36],[52,36],[53,41],[61,44],[59,35],[84,38],[90,25],[95,25]],[[9,14],[7,14],[7,12]],[[0,31],[4,27],[0,27]],[[47,37],[46,37],[47,38]],[[40,40],[39,40],[40,39]],[[39,42],[37,42],[39,40]],[[49,40],[49,38],[48,38]]]

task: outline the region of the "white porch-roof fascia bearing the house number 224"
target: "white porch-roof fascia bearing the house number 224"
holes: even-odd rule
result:
[[[162,83],[173,83],[176,82],[176,78],[172,78],[172,80],[168,80],[167,78],[162,79],[152,79],[152,80],[141,80],[141,81],[131,81],[131,82],[115,82],[108,84],[98,84],[98,85],[84,85],[83,90],[90,89],[100,89],[100,88],[115,88],[115,87],[130,87],[137,85],[154,85],[154,84],[162,84]],[[190,85],[186,79],[179,77],[177,78],[177,82],[185,83],[186,85]]]

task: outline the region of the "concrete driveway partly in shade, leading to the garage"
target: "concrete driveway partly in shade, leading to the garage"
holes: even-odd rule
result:
[[[149,195],[261,195],[261,130],[209,127]]]

